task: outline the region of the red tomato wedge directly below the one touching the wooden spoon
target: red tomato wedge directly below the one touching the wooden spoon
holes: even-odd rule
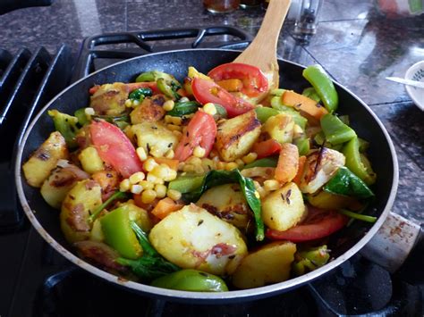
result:
[[[200,104],[220,104],[225,108],[229,118],[247,113],[254,108],[253,104],[231,95],[224,88],[208,79],[193,79],[191,88],[194,97]]]

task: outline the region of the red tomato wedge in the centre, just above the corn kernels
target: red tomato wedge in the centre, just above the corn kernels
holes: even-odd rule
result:
[[[175,148],[174,158],[180,162],[187,160],[193,154],[194,147],[201,146],[208,156],[216,137],[216,123],[214,117],[208,113],[197,112],[191,118],[187,129],[182,135],[180,143]]]

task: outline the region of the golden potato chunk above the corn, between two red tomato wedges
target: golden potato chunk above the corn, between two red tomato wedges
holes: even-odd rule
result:
[[[174,133],[159,122],[145,121],[133,125],[131,129],[137,138],[138,146],[142,146],[147,153],[155,148],[157,155],[164,156],[169,149],[174,149],[178,143],[178,138]]]

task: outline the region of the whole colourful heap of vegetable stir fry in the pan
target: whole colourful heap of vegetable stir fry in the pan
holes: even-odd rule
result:
[[[89,89],[22,170],[66,240],[102,269],[158,288],[227,291],[325,265],[328,237],[363,215],[369,143],[336,113],[318,65],[302,93],[242,63],[183,82],[146,71]]]

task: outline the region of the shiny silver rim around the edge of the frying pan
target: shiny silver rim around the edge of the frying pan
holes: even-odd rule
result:
[[[219,48],[192,48],[192,49],[181,49],[181,50],[171,50],[171,51],[164,51],[164,52],[158,52],[154,54],[145,54],[141,56],[136,56],[131,59],[114,63],[111,65],[106,66],[105,68],[102,68],[98,71],[94,71],[90,73],[87,77],[84,77],[82,79],[79,79],[72,83],[70,86],[65,88],[63,91],[61,91],[58,95],[56,95],[52,100],[50,100],[34,117],[34,119],[30,122],[30,125],[25,130],[23,137],[20,138],[20,145],[18,147],[18,152],[16,154],[16,161],[14,166],[14,177],[16,182],[16,188],[18,192],[18,196],[21,202],[21,205],[23,207],[23,210],[25,214],[27,215],[28,219],[30,220],[32,226],[38,231],[38,233],[47,241],[47,243],[50,246],[53,246],[55,250],[62,254],[67,260],[70,262],[78,265],[82,269],[89,271],[90,273],[93,273],[97,275],[98,277],[102,279],[106,279],[109,282],[112,282],[114,284],[117,284],[119,286],[123,286],[126,288],[131,288],[131,290],[134,291],[141,291],[143,294],[145,293],[146,296],[161,296],[165,299],[172,300],[172,301],[192,301],[197,300],[199,304],[206,304],[209,302],[210,304],[222,304],[225,301],[247,301],[252,299],[252,297],[255,297],[255,299],[260,297],[266,297],[266,296],[274,296],[277,293],[283,293],[285,291],[288,291],[293,288],[300,287],[301,285],[304,285],[305,283],[308,283],[312,281],[313,279],[317,279],[320,276],[323,276],[329,271],[332,271],[335,267],[339,266],[349,258],[351,258],[354,254],[357,254],[360,249],[365,246],[371,238],[375,236],[377,233],[377,230],[382,226],[384,221],[386,221],[386,217],[388,213],[390,213],[390,210],[392,208],[392,205],[394,204],[394,198],[396,196],[396,191],[398,188],[398,182],[399,182],[399,167],[397,162],[396,153],[394,150],[394,144],[392,139],[390,138],[388,132],[386,131],[386,128],[382,124],[382,122],[377,118],[377,115],[372,112],[372,110],[369,108],[367,104],[365,104],[358,96],[352,94],[352,92],[344,88],[341,84],[335,82],[335,85],[339,88],[342,88],[345,90],[348,94],[350,94],[352,97],[354,97],[369,113],[369,115],[372,116],[374,121],[377,122],[379,128],[382,130],[386,142],[390,148],[390,152],[392,155],[392,164],[394,167],[394,175],[392,179],[392,187],[390,190],[390,194],[388,196],[386,206],[382,213],[379,215],[377,221],[374,223],[374,225],[369,229],[369,231],[362,237],[358,242],[356,242],[351,248],[349,248],[345,253],[338,256],[335,260],[333,260],[330,263],[327,263],[321,268],[318,268],[315,271],[311,271],[310,273],[301,275],[300,277],[294,278],[294,279],[288,279],[283,282],[279,282],[276,284],[260,287],[260,288],[250,288],[250,289],[243,289],[243,290],[232,290],[229,292],[223,292],[223,293],[211,293],[211,292],[190,292],[190,291],[181,291],[181,290],[173,290],[173,289],[166,289],[166,288],[156,288],[151,287],[146,284],[141,284],[134,281],[127,281],[122,278],[119,278],[118,276],[108,273],[106,271],[100,270],[94,265],[85,262],[75,254],[72,254],[72,252],[68,251],[64,246],[59,244],[55,238],[51,237],[50,234],[47,232],[44,227],[41,226],[39,223],[37,217],[34,215],[34,213],[37,213],[37,211],[32,211],[30,208],[30,204],[28,203],[28,200],[25,196],[25,193],[23,191],[22,186],[22,177],[21,177],[21,162],[22,162],[22,154],[23,154],[23,148],[24,145],[27,142],[27,139],[30,136],[30,132],[35,126],[35,124],[38,122],[38,119],[40,116],[46,112],[47,108],[50,107],[51,104],[55,102],[57,98],[60,96],[63,96],[66,94],[66,92],[73,88],[74,86],[77,86],[81,83],[81,81],[88,79],[89,77],[92,77],[96,75],[100,71],[105,71],[108,68],[114,67],[121,63],[130,63],[130,61],[144,58],[146,56],[153,56],[153,55],[160,55],[160,54],[171,54],[171,53],[178,53],[178,52],[188,52],[188,51],[217,51],[217,52],[241,52],[239,50],[232,50],[232,49],[219,49]],[[291,63],[297,66],[300,66],[304,68],[303,65],[300,63],[294,63],[291,61],[287,61],[284,59],[279,59],[283,61],[284,63]]]

